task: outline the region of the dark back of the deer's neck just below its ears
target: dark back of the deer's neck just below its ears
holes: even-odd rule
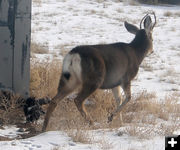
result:
[[[134,40],[130,43],[130,45],[135,50],[138,62],[140,64],[143,61],[146,54],[148,53],[148,50],[151,45],[145,30],[140,30],[136,34]]]

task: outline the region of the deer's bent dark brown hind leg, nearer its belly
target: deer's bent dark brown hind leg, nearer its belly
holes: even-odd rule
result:
[[[83,83],[74,102],[82,117],[91,125],[93,122],[86,111],[84,101],[102,85],[105,76],[105,64],[102,57],[98,54],[91,54],[91,57],[83,57],[81,64]]]

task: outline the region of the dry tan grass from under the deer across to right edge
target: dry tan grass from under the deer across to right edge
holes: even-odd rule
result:
[[[123,109],[124,124],[156,125],[158,120],[167,122],[172,121],[172,119],[173,122],[177,122],[180,108],[179,105],[176,105],[174,97],[166,98],[164,103],[159,103],[156,99],[154,93],[147,92],[133,97]],[[112,123],[107,124],[108,114],[116,107],[109,91],[98,90],[88,100],[92,101],[92,104],[86,105],[87,111],[93,120],[99,123],[98,127],[89,127],[75,107],[72,98],[66,98],[59,103],[49,128],[63,130],[79,127],[89,130],[96,128],[112,129],[122,126],[119,117],[115,117]]]

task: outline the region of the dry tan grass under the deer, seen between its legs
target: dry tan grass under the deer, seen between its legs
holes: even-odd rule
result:
[[[74,98],[72,97],[67,97],[59,102],[58,107],[53,113],[52,120],[50,121],[49,129],[64,130],[76,129],[79,127],[89,130],[96,128],[94,126],[89,127],[88,124],[84,121],[79,111],[77,110],[73,99]],[[112,112],[115,106],[112,94],[109,92],[97,91],[88,98],[88,101],[90,101],[92,104],[85,105],[85,107],[93,121],[100,123],[102,128],[108,127],[109,125],[106,123],[107,116],[110,112]],[[118,119],[116,119],[116,121],[114,121],[111,126],[118,125],[119,123],[117,123],[117,121]]]

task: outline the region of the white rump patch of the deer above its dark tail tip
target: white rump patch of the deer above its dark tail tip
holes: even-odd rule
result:
[[[81,57],[79,54],[67,54],[63,61],[63,73],[70,73],[81,80]]]

